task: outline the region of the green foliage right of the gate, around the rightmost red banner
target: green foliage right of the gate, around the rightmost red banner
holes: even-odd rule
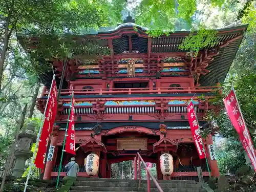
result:
[[[250,8],[249,13],[242,18],[244,24],[248,23],[248,30],[243,38],[242,44],[237,52],[229,73],[222,84],[223,95],[219,95],[216,99],[211,100],[212,104],[221,106],[218,114],[210,113],[207,119],[214,124],[212,127],[218,126],[218,133],[225,139],[217,144],[216,155],[218,165],[222,174],[236,171],[239,167],[245,164],[244,153],[241,152],[242,144],[239,140],[237,131],[230,122],[225,111],[222,101],[225,94],[229,93],[231,86],[236,90],[238,101],[245,118],[246,125],[249,129],[250,136],[256,144],[256,46],[255,46],[255,7]],[[204,130],[207,133],[213,131]],[[216,129],[214,130],[216,131]]]

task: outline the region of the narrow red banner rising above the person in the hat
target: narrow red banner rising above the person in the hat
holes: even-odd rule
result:
[[[74,94],[72,94],[72,103],[71,103],[71,110],[69,115],[69,126],[68,126],[68,132],[67,132],[67,140],[65,144],[65,151],[67,153],[76,155],[75,152],[75,113],[74,113],[74,105],[75,105],[75,99]]]

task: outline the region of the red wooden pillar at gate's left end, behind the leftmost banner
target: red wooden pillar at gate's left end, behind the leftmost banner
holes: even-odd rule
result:
[[[46,169],[45,169],[45,174],[44,174],[44,180],[50,180],[51,179],[51,173],[53,170],[53,166],[56,163],[56,159],[57,159],[57,137],[53,136],[52,140],[51,140],[51,145],[55,146],[54,147],[54,152],[53,152],[53,157],[52,157],[52,161],[47,161],[46,163]]]

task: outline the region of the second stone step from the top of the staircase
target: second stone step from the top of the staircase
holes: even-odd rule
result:
[[[156,187],[155,183],[151,181],[151,187]],[[127,180],[126,182],[106,182],[106,181],[75,181],[75,186],[92,186],[92,187],[139,187],[138,182],[132,182]],[[201,188],[201,184],[199,183],[182,183],[182,182],[168,182],[168,183],[159,183],[161,188],[179,188],[179,187],[187,187],[187,188]],[[142,187],[147,187],[146,182],[142,182]]]

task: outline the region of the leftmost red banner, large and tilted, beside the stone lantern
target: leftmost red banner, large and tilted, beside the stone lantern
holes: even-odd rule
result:
[[[38,145],[38,151],[35,158],[35,166],[41,168],[44,172],[46,162],[46,151],[48,142],[52,133],[52,127],[57,112],[57,86],[55,77],[53,77],[51,89],[48,95],[48,102],[46,105],[44,124],[42,125],[41,136]]]

